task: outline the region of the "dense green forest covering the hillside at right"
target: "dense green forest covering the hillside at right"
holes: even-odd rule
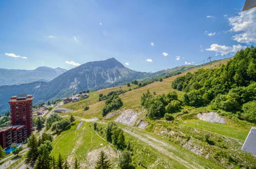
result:
[[[216,69],[200,69],[172,82],[173,89],[186,92],[186,105],[210,103],[212,109],[233,112],[256,123],[256,47],[246,48]]]

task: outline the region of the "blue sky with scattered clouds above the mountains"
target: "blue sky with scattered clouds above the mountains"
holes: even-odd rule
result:
[[[114,57],[155,72],[256,43],[244,1],[0,1],[0,68],[71,69]],[[242,21],[241,21],[242,20]]]

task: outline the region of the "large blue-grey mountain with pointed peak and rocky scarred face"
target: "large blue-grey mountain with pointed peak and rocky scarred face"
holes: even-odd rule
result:
[[[44,67],[37,68],[39,70]],[[9,109],[10,96],[28,93],[34,97],[33,103],[70,96],[82,90],[98,90],[122,85],[147,73],[136,72],[124,67],[115,58],[87,62],[66,71],[49,82],[31,82],[22,85],[0,86],[0,111]],[[3,113],[3,112],[2,112]]]

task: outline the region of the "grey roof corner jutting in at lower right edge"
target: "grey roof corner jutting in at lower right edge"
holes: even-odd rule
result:
[[[252,127],[245,142],[242,150],[256,155],[256,128]]]

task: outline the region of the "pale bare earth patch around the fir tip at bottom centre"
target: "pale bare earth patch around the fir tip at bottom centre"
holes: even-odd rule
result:
[[[95,167],[95,163],[99,157],[99,154],[101,151],[104,151],[107,156],[108,156],[108,160],[111,161],[111,164],[115,163],[115,159],[117,158],[117,153],[112,149],[112,147],[110,145],[108,146],[104,146],[101,149],[95,149],[91,152],[89,152],[87,154],[87,164],[85,165],[86,168],[94,168]],[[112,165],[113,167],[113,165]]]

